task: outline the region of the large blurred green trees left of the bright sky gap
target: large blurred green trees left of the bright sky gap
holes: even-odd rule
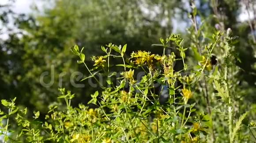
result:
[[[84,46],[87,62],[91,62],[90,56],[100,54],[100,46],[109,42],[127,43],[128,53],[137,49],[158,53],[161,47],[151,47],[151,44],[158,43],[159,37],[172,31],[174,7],[180,2],[50,0],[50,3],[53,6],[45,7],[43,12],[35,8],[33,14],[16,18],[15,25],[21,32],[9,35],[3,44],[11,51],[8,58],[3,57],[3,61],[9,59],[11,74],[5,73],[2,77],[12,84],[6,84],[8,91],[0,91],[1,98],[18,97],[17,104],[39,111],[45,111],[49,103],[56,100],[60,86],[76,93],[74,104],[86,103],[90,93],[97,90],[88,81],[82,82],[84,88],[72,86],[71,75],[75,71],[82,71],[85,76],[89,74],[75,63],[71,46]],[[53,81],[50,87],[40,82],[43,72],[49,72],[44,82]],[[51,72],[54,77],[50,76]]]

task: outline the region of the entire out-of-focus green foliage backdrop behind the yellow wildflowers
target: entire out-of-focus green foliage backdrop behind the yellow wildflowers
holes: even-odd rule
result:
[[[43,11],[34,7],[31,14],[15,14],[11,5],[0,5],[0,24],[3,28],[9,27],[10,31],[7,39],[0,38],[0,98],[9,100],[17,97],[17,106],[27,107],[31,116],[33,111],[40,111],[40,121],[44,121],[49,105],[63,102],[57,99],[60,73],[66,72],[62,87],[75,93],[72,99],[74,107],[80,103],[86,105],[90,95],[99,90],[91,87],[87,80],[76,81],[85,84],[84,88],[72,86],[70,76],[73,72],[79,71],[85,76],[90,74],[81,64],[76,64],[77,57],[70,51],[73,45],[85,47],[85,63],[93,68],[94,62],[90,57],[104,54],[100,47],[110,42],[116,45],[127,43],[127,57],[137,50],[162,54],[162,48],[152,44],[159,43],[160,37],[173,33],[173,27],[177,27],[175,32],[184,38],[184,47],[191,48],[198,46],[198,43],[209,43],[214,29],[226,31],[230,28],[232,36],[237,36],[232,43],[236,60],[230,60],[239,67],[235,75],[237,80],[233,83],[241,89],[237,91],[237,100],[244,102],[237,102],[241,106],[237,109],[241,110],[236,115],[239,118],[246,110],[255,111],[256,107],[256,14],[254,12],[254,19],[250,21],[239,21],[243,4],[249,4],[248,7],[256,5],[253,0],[196,0],[194,17],[200,27],[197,32],[193,14],[191,16],[193,7],[190,7],[190,2],[181,0],[47,0]],[[8,24],[13,20],[15,25],[10,27]],[[3,32],[4,29],[0,29],[0,33]],[[169,46],[174,45],[170,43]],[[219,50],[213,53],[219,57],[222,54]],[[196,57],[193,50],[187,50],[186,55],[186,62],[196,64],[190,60]],[[111,64],[122,62],[113,58]],[[52,66],[53,85],[44,87],[39,81],[40,75],[50,72]],[[182,62],[176,68],[183,68]],[[115,67],[111,70],[120,69]],[[45,82],[49,82],[50,78],[46,77]],[[206,101],[202,102],[204,105]],[[245,104],[251,108],[248,109]],[[252,112],[250,119],[255,118]]]

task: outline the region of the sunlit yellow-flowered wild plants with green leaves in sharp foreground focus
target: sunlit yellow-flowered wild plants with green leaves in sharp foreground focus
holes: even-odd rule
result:
[[[160,38],[161,44],[154,44],[162,48],[162,55],[138,50],[130,56],[126,53],[128,45],[109,43],[101,46],[105,55],[91,57],[92,69],[86,63],[84,48],[80,50],[75,45],[71,50],[79,57],[77,63],[90,73],[82,80],[93,78],[100,87],[88,102],[94,106],[73,107],[75,94],[63,88],[58,99],[64,104],[51,104],[41,122],[38,111],[33,112],[30,120],[26,118],[26,108],[15,106],[15,99],[1,100],[7,112],[0,111],[0,121],[6,121],[1,122],[0,133],[4,142],[249,142],[254,137],[255,124],[245,120],[252,120],[248,115],[253,112],[243,112],[235,105],[242,99],[237,100],[241,96],[235,78],[238,68],[234,64],[232,40],[230,33],[215,30],[207,43],[184,47],[184,39],[171,34]],[[171,49],[170,54],[166,54],[166,49]],[[192,64],[188,64],[186,51],[194,54],[190,56]],[[212,64],[214,53],[218,58],[216,65]],[[120,59],[120,63],[111,66],[113,58]],[[182,63],[181,70],[175,68],[177,61]],[[116,67],[122,71],[115,71]],[[139,72],[143,75],[138,78]],[[99,80],[98,75],[105,80]],[[19,126],[18,131],[9,128],[11,117]]]

